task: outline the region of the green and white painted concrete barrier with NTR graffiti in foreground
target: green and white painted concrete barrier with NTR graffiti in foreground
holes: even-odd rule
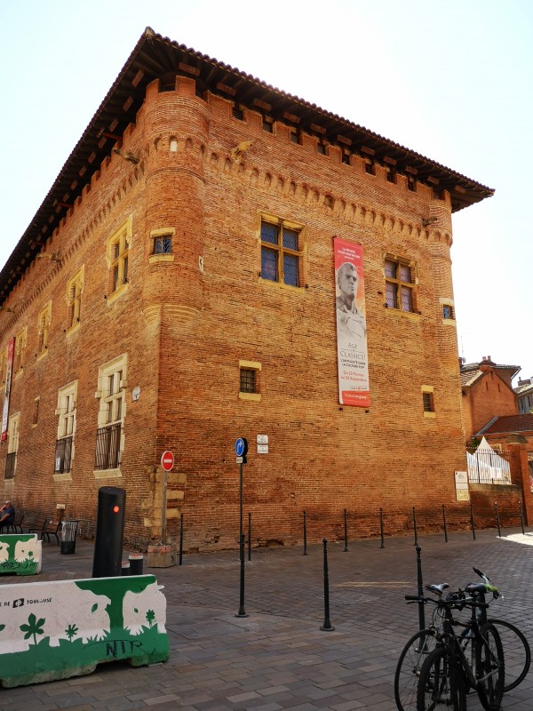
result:
[[[91,674],[117,659],[169,657],[166,599],[154,575],[0,586],[0,684]]]

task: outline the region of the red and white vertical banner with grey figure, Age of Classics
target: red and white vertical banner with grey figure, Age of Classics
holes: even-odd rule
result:
[[[370,405],[362,246],[333,239],[337,311],[338,402]]]

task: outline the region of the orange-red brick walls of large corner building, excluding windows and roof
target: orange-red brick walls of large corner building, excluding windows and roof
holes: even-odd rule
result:
[[[453,299],[447,196],[436,199],[421,183],[412,192],[402,176],[389,183],[380,166],[369,175],[357,156],[342,164],[338,148],[317,155],[313,137],[295,145],[286,126],[270,134],[259,114],[246,111],[243,122],[230,109],[210,94],[196,96],[192,80],[179,80],[176,92],[150,85],[123,140],[140,163],[113,155],[102,166],[49,245],[60,263],[36,260],[13,291],[8,306],[18,308],[0,315],[1,345],[28,324],[28,365],[12,387],[20,447],[4,491],[28,511],[65,504],[65,515],[91,531],[99,486],[121,486],[126,538],[157,539],[158,464],[171,449],[169,536],[178,535],[183,514],[187,548],[233,547],[233,443],[243,435],[251,443],[243,510],[256,543],[301,539],[304,510],[316,539],[338,535],[345,508],[354,535],[377,531],[379,507],[391,531],[408,528],[413,506],[421,520],[442,504],[467,511],[454,488],[454,471],[465,469],[457,337],[439,301]],[[235,161],[231,149],[243,140],[251,147]],[[305,226],[303,288],[259,279],[261,212]],[[129,284],[109,301],[107,238],[130,215]],[[425,216],[436,218],[430,228],[421,224]],[[150,232],[160,228],[175,230],[171,262],[149,259]],[[338,404],[333,236],[364,250],[367,411]],[[419,314],[384,307],[386,253],[416,260]],[[67,337],[66,283],[81,265],[82,320]],[[50,348],[36,360],[36,317],[50,299]],[[93,475],[94,393],[99,366],[122,353],[129,363],[125,449],[122,476],[109,481]],[[262,365],[259,403],[238,397],[239,360]],[[57,482],[57,391],[76,378],[76,459],[72,480]],[[434,419],[423,416],[422,385],[434,386]],[[37,395],[41,414],[32,427]],[[267,455],[255,451],[259,434],[269,437]]]

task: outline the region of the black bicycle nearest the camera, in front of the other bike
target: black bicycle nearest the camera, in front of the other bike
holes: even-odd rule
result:
[[[485,583],[467,585],[465,591],[442,597],[443,586],[426,586],[440,592],[434,601],[442,610],[442,634],[437,636],[434,651],[428,655],[418,678],[417,711],[434,711],[438,707],[452,707],[465,711],[467,686],[477,691],[486,711],[499,711],[504,695],[504,651],[496,627],[489,622],[479,623],[477,610],[488,603],[476,599],[485,592]],[[472,595],[466,597],[465,593]],[[454,611],[468,607],[470,619],[463,622],[454,618]],[[455,627],[465,627],[463,635],[456,635]],[[465,653],[468,651],[468,656]]]

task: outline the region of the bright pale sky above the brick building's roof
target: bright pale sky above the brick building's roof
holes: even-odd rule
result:
[[[0,267],[149,26],[494,188],[453,216],[459,356],[533,376],[533,2],[0,0],[0,26]]]

